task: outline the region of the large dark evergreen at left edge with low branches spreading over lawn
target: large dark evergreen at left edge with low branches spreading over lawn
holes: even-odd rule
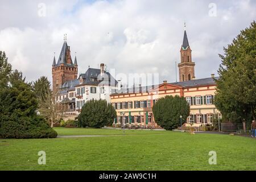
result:
[[[31,85],[24,82],[21,72],[11,72],[5,55],[1,56],[0,62],[0,137],[56,137],[56,131],[47,125],[44,118],[36,115],[38,102]]]

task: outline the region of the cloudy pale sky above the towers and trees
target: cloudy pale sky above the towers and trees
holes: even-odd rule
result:
[[[67,34],[79,73],[105,63],[116,73],[159,73],[175,81],[186,22],[196,78],[217,74],[223,47],[255,20],[256,2],[0,0],[0,50],[28,81],[51,80]]]

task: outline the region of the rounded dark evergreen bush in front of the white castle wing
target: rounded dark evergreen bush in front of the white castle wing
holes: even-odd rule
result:
[[[105,100],[90,100],[82,107],[78,117],[80,127],[100,128],[112,125],[117,113]]]

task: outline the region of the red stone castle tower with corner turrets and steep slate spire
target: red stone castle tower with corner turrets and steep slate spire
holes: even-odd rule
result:
[[[56,64],[55,56],[52,63],[52,90],[57,92],[64,82],[75,80],[77,78],[78,65],[75,57],[73,63],[70,53],[70,47],[67,44],[67,35],[64,37],[64,43],[61,48],[60,56]]]

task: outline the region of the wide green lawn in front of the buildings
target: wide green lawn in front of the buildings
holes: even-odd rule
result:
[[[0,170],[256,170],[256,140],[172,131],[55,129],[59,135],[118,135],[0,139]],[[46,165],[38,152],[46,152]],[[209,165],[209,151],[217,165]]]

